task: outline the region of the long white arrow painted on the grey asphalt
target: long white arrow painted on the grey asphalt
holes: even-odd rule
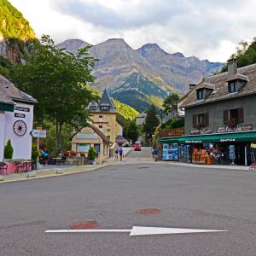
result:
[[[138,227],[133,226],[131,230],[46,230],[45,233],[130,233],[130,236],[146,235],[171,235],[171,234],[192,234],[225,232],[226,230],[191,230],[159,227]]]

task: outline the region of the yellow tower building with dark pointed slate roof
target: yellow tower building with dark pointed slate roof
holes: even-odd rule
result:
[[[117,111],[108,95],[108,90],[105,88],[100,102],[90,102],[88,108],[92,124],[99,128],[112,143],[115,143],[115,137],[118,136]]]

